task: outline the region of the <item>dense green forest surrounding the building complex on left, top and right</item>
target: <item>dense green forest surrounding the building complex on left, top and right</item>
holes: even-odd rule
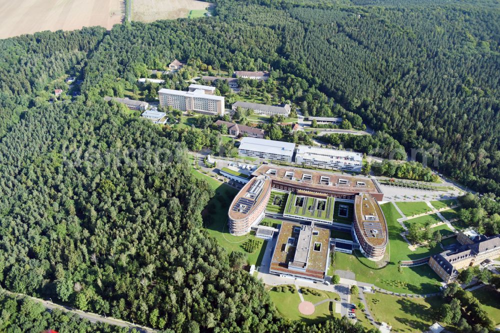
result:
[[[123,96],[143,68],[173,58],[268,69],[305,115],[357,114],[377,131],[344,142],[434,148],[440,170],[499,194],[498,4],[216,3],[196,20],[0,41],[0,283],[172,332],[362,332],[346,319],[282,319],[245,258],[201,230],[214,193],[186,149],[219,134],[164,131],[102,96]],[[65,75],[83,79],[81,95],[49,103]],[[467,206],[470,224],[497,230],[486,205]]]

